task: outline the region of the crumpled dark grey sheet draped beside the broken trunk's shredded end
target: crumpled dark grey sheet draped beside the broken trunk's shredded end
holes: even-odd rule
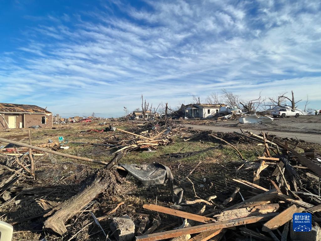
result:
[[[183,198],[183,189],[173,178],[172,172],[168,166],[161,165],[160,163],[143,164],[143,165],[127,165],[119,164],[125,170],[133,175],[144,186],[159,185],[167,183],[173,197],[173,201],[181,203]]]

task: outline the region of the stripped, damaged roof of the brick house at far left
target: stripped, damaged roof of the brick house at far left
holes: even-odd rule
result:
[[[0,103],[1,113],[51,113],[37,105]]]

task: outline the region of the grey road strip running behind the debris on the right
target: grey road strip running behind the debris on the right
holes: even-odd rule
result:
[[[199,129],[199,130],[213,130],[213,131],[221,131],[221,132],[233,132],[233,131],[241,132],[239,128],[233,128],[233,127],[204,126],[204,125],[190,125],[190,124],[186,124],[186,127],[193,127],[194,129]],[[246,130],[249,130],[255,134],[259,133],[258,129],[246,129]],[[317,134],[299,133],[299,132],[293,132],[293,131],[291,132],[271,131],[271,130],[268,130],[268,132],[270,134],[277,135],[280,137],[298,138],[308,142],[321,144],[321,135],[317,135]]]

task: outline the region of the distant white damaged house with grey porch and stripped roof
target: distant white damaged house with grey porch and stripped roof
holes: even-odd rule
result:
[[[206,118],[216,115],[225,104],[188,104],[185,106],[187,118]]]

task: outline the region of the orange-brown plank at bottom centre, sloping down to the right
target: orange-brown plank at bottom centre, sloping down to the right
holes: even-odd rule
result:
[[[202,223],[207,223],[207,222],[215,220],[215,219],[203,217],[200,215],[196,215],[193,213],[183,212],[183,211],[179,211],[179,210],[175,210],[175,209],[171,209],[171,208],[165,208],[165,207],[161,207],[161,206],[154,205],[154,204],[145,204],[145,205],[143,205],[143,208],[148,209],[148,210],[152,210],[152,211],[156,211],[156,212],[170,214],[170,215],[181,217],[184,219],[191,219],[191,220],[202,222]]]

